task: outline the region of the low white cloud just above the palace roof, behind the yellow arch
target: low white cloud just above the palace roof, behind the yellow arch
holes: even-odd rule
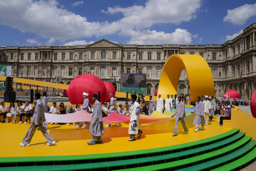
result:
[[[135,33],[136,34],[136,33]],[[162,44],[191,44],[192,35],[185,29],[176,29],[173,33],[157,32],[155,30],[138,31],[137,36],[127,44],[162,45]]]

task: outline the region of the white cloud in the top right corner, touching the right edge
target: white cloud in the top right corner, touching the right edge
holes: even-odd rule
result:
[[[227,15],[223,18],[224,22],[230,22],[235,25],[243,25],[246,20],[256,15],[256,4],[245,4],[238,8],[227,10]]]

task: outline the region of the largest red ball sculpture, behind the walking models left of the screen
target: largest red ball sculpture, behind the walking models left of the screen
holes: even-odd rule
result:
[[[89,101],[94,104],[93,94],[100,92],[100,102],[106,99],[106,87],[103,81],[91,74],[82,74],[75,77],[69,84],[68,97],[71,104],[83,104],[82,93],[88,93]]]

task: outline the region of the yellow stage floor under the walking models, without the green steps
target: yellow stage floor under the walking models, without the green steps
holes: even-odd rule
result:
[[[195,133],[194,118],[195,114],[187,115],[185,122],[189,129],[188,134],[184,135],[183,127],[179,123],[178,136],[175,137],[172,136],[175,119],[154,124],[142,124],[143,133],[139,139],[133,142],[128,141],[129,125],[122,124],[122,126],[116,127],[114,124],[112,127],[104,127],[103,144],[96,145],[87,144],[91,139],[90,130],[76,130],[73,124],[70,126],[49,124],[48,132],[56,144],[47,146],[44,136],[40,131],[36,131],[29,147],[19,146],[27,133],[29,124],[2,123],[0,124],[2,142],[0,157],[69,156],[137,151],[197,141],[223,134],[232,129],[218,126],[218,117],[214,117],[211,124],[205,125],[204,131]]]

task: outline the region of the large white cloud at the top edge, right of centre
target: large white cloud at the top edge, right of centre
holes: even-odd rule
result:
[[[108,8],[104,13],[122,13],[121,22],[133,24],[138,27],[148,28],[158,23],[180,24],[189,22],[197,17],[201,7],[201,0],[149,0],[144,6]],[[184,10],[186,9],[186,10]]]

